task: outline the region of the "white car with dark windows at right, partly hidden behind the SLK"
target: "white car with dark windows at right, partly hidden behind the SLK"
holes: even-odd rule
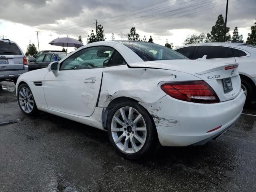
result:
[[[244,43],[201,43],[178,47],[177,52],[190,59],[202,58],[221,63],[238,63],[246,104],[256,96],[256,46]]]

